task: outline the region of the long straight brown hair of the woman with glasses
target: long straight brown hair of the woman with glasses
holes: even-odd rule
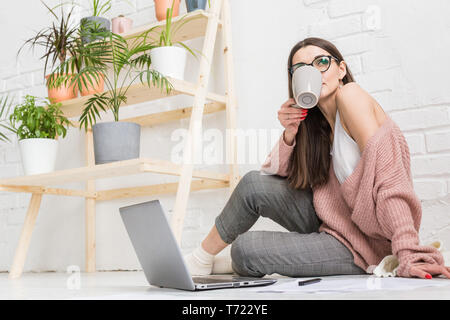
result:
[[[288,70],[292,67],[294,54],[303,47],[314,45],[336,57],[340,63],[344,60],[339,50],[331,42],[310,37],[298,42],[291,50]],[[347,74],[342,79],[344,84],[354,82],[352,73],[346,64]],[[293,98],[292,76],[288,71],[289,97]],[[318,106],[308,110],[308,115],[300,122],[295,137],[293,155],[288,165],[287,181],[295,189],[319,186],[328,181],[330,169],[331,127]]]

